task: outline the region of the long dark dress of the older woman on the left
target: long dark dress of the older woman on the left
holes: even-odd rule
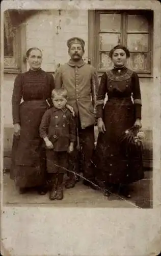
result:
[[[47,110],[46,99],[55,88],[53,76],[39,69],[19,74],[12,95],[13,124],[19,123],[20,136],[13,138],[11,179],[19,187],[45,182],[45,151],[39,125]],[[21,102],[21,98],[23,102]]]

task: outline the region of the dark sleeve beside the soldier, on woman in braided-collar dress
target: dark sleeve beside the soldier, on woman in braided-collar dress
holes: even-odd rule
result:
[[[96,118],[103,117],[103,105],[104,105],[104,99],[105,94],[107,92],[107,75],[106,73],[103,73],[100,80],[100,86],[98,89],[98,95],[97,95],[97,101],[96,101]]]

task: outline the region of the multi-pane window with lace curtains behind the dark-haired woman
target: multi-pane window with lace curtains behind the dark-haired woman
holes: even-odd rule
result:
[[[94,12],[94,13],[90,13]],[[130,51],[127,67],[139,74],[151,74],[152,12],[151,11],[90,11],[89,48],[92,65],[98,72],[112,68],[110,50],[122,44]],[[91,26],[93,24],[93,26]],[[91,26],[91,29],[90,29]],[[91,34],[93,33],[93,35]]]

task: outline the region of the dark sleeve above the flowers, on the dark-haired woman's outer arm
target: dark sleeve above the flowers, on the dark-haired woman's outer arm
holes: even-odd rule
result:
[[[136,119],[142,118],[142,100],[141,100],[141,91],[140,91],[140,82],[139,77],[136,72],[133,72],[132,74],[132,97],[133,102],[135,104],[135,113],[136,113]]]

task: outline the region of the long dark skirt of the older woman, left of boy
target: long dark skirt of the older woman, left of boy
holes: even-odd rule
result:
[[[46,111],[45,101],[25,101],[20,105],[20,136],[13,137],[10,178],[18,187],[41,186],[46,179],[45,148],[39,125]]]

